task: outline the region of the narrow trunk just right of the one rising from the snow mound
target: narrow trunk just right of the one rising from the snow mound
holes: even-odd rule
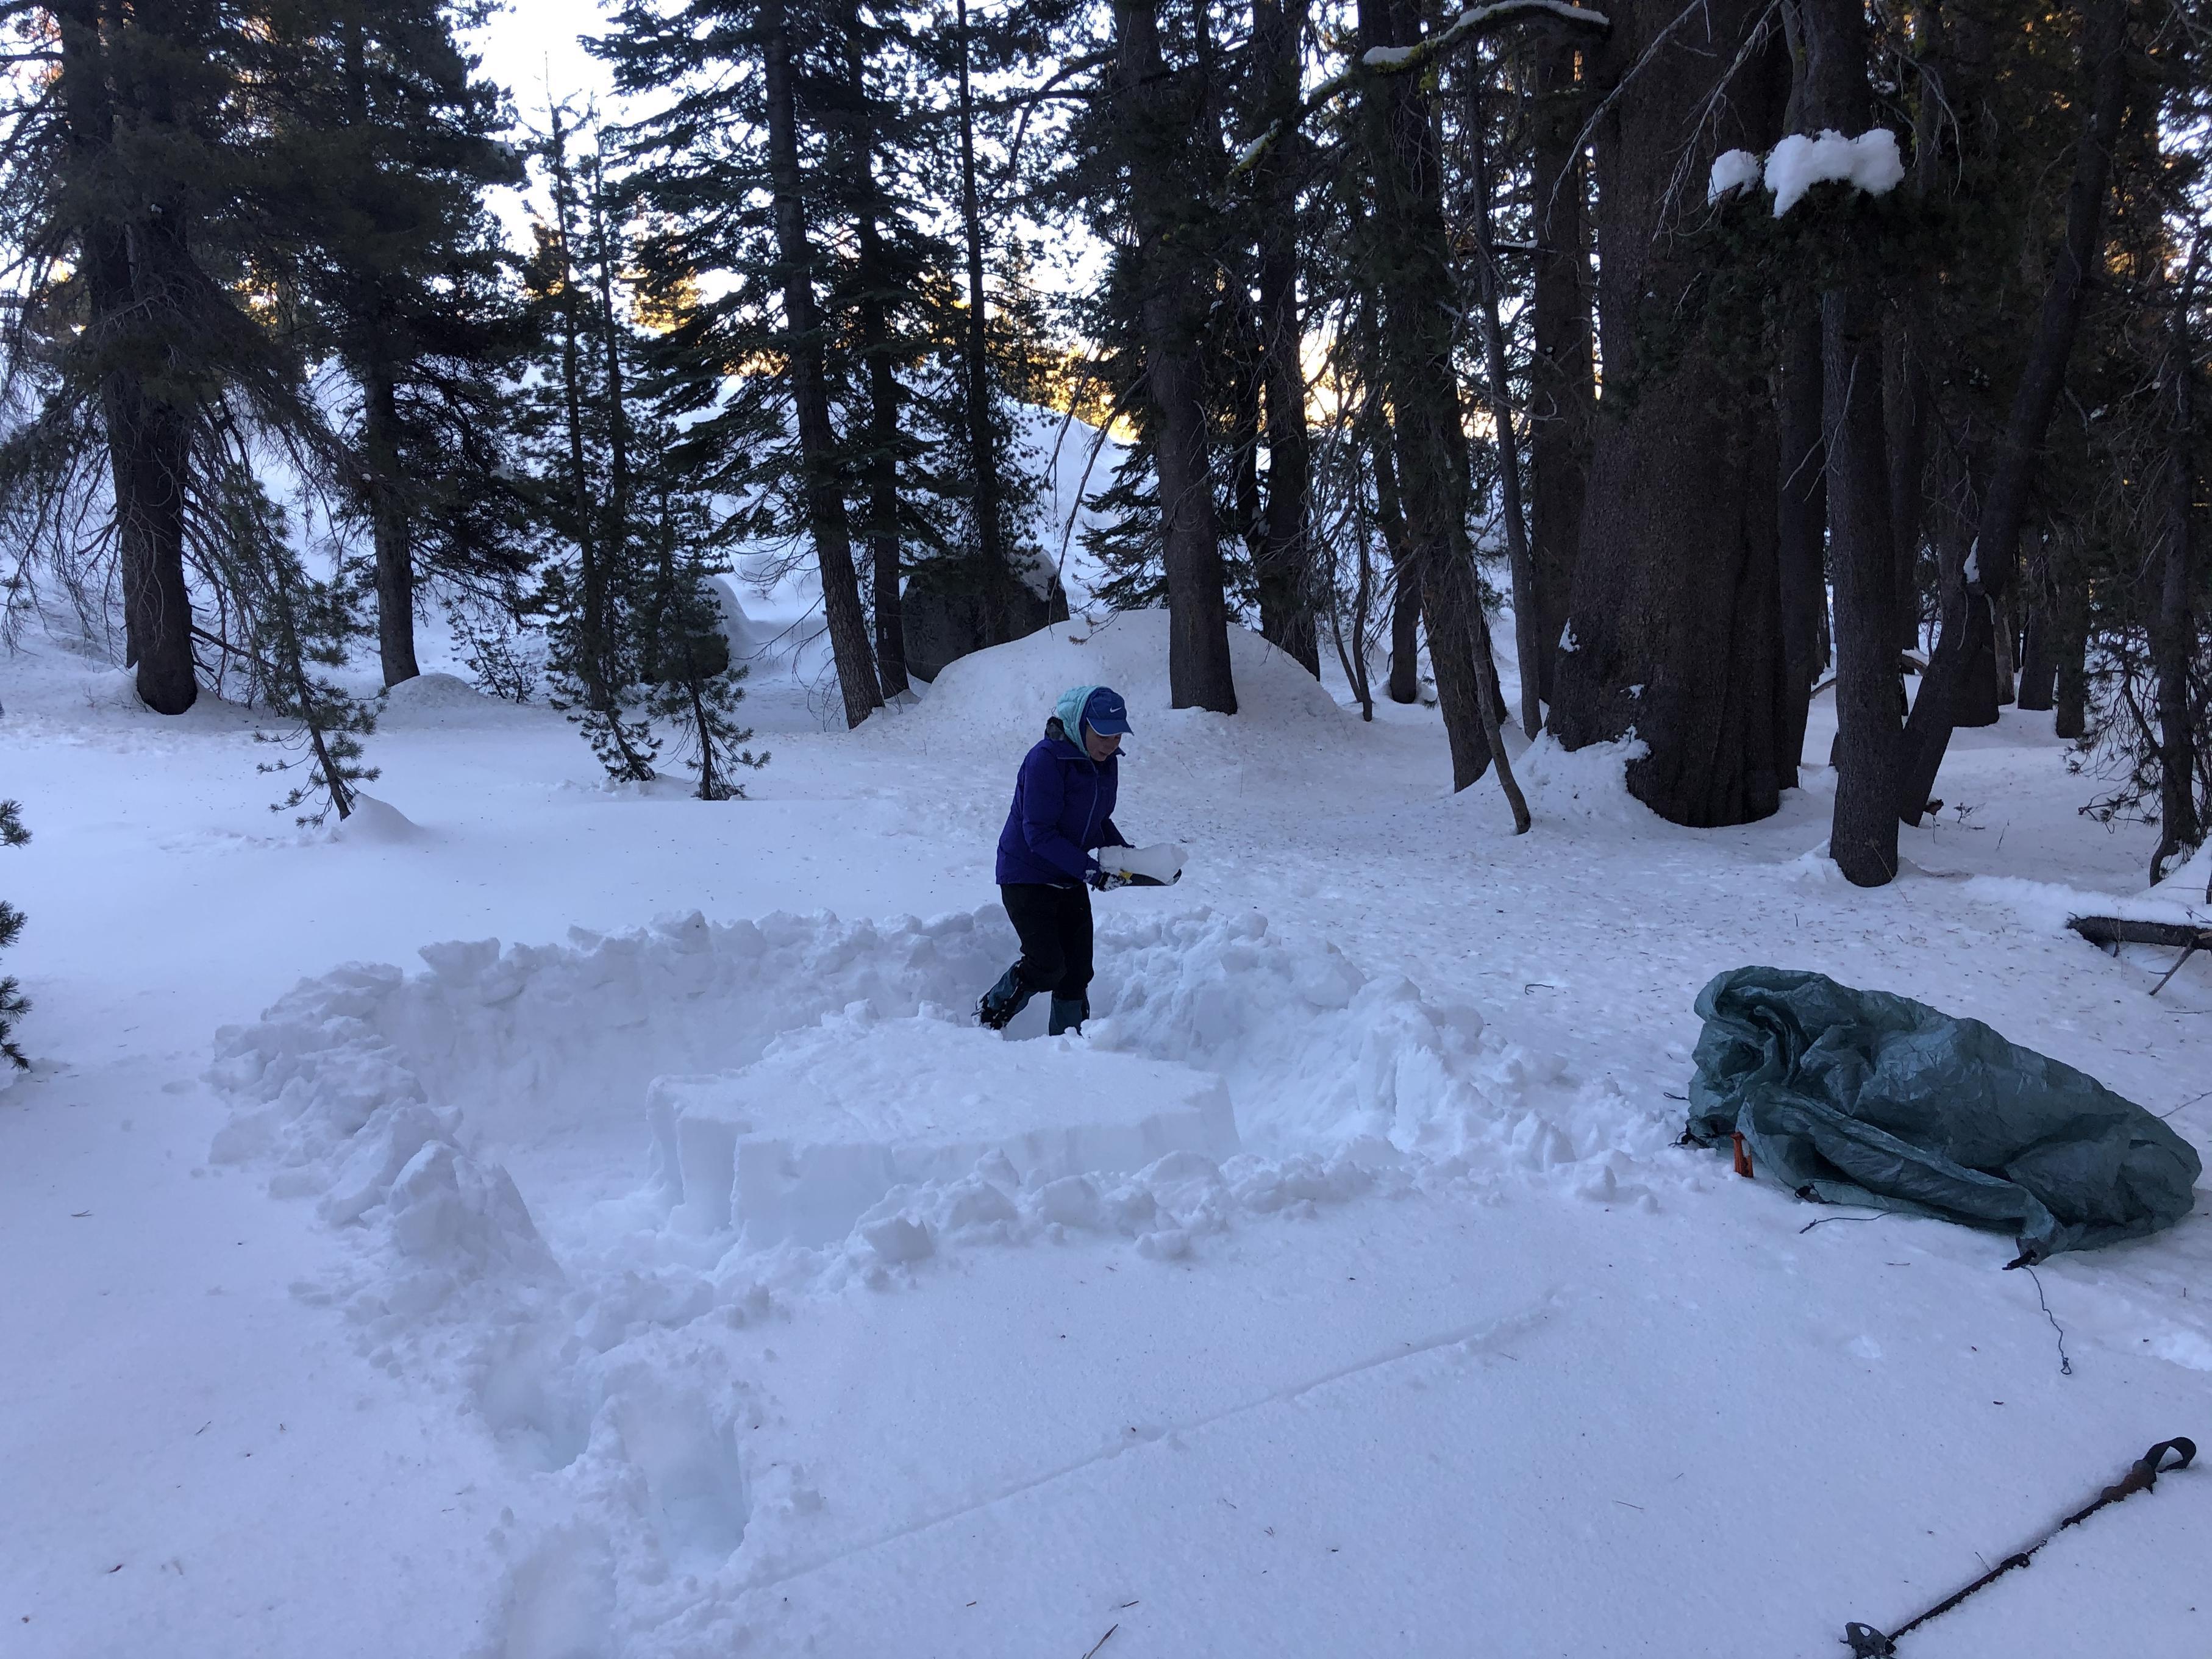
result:
[[[1267,77],[1265,119],[1298,106],[1298,40],[1307,0],[1252,0],[1252,53]],[[1305,425],[1305,334],[1298,316],[1296,146],[1276,144],[1254,170],[1259,325],[1267,396],[1267,529],[1259,546],[1259,630],[1321,672],[1310,542],[1312,438]]]

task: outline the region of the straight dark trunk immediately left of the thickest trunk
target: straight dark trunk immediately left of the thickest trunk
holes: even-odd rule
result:
[[[1582,150],[1586,108],[1575,82],[1575,40],[1537,46],[1535,69],[1535,276],[1531,312],[1535,356],[1528,363],[1528,540],[1535,564],[1537,695],[1553,699],[1559,635],[1575,593],[1582,507],[1590,476],[1590,431],[1597,420],[1597,376],[1590,356],[1590,206]],[[1526,672],[1526,664],[1524,664]]]

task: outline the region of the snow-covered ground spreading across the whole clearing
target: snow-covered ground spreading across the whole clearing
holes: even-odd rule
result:
[[[1960,734],[1860,894],[1818,770],[1683,832],[1544,748],[1513,838],[1433,714],[1237,644],[1234,719],[1168,712],[1155,617],[856,734],[763,677],[732,805],[427,681],[374,739],[394,816],[338,836],[265,810],[239,710],[0,661],[40,1060],[0,1091],[0,1650],[1820,1655],[2212,1444],[2203,1212],[2042,1270],[2066,1376],[2006,1241],[1807,1232],[1838,1212],[1670,1146],[1743,962],[2212,1144],[2212,962],[2150,1000],[2159,953],[2064,933],[2148,841],[2075,814],[2046,726]],[[1011,951],[991,843],[1102,679],[1119,821],[1190,874],[1097,900],[1088,1042],[1009,1048],[958,1024]],[[787,1223],[699,1177],[730,1124]],[[2203,1655],[2205,1559],[2212,1469],[1907,1652]]]

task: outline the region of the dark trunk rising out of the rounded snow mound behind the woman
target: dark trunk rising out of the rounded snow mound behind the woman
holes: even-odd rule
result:
[[[1115,0],[1121,142],[1137,234],[1144,376],[1157,416],[1161,562],[1168,577],[1168,699],[1175,708],[1237,712],[1230,675],[1221,529],[1214,518],[1212,440],[1206,427],[1206,234],[1190,131],[1192,91],[1159,58],[1155,0]],[[1203,95],[1203,93],[1199,93]]]

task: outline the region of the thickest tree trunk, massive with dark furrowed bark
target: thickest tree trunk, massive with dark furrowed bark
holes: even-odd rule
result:
[[[1599,51],[1599,84],[1630,69],[1637,80],[1595,133],[1606,396],[1551,706],[1566,748],[1635,732],[1646,752],[1628,765],[1630,792],[1701,827],[1781,803],[1778,440],[1772,398],[1747,396],[1703,352],[1646,365],[1639,334],[1670,327],[1708,274],[1666,217],[1681,135],[1699,133],[1688,168],[1703,177],[1717,148],[1765,148],[1778,126],[1763,73],[1714,97],[1705,42],[1741,40],[1752,11],[1714,0],[1699,29],[1679,31],[1670,9],[1613,9]]]

